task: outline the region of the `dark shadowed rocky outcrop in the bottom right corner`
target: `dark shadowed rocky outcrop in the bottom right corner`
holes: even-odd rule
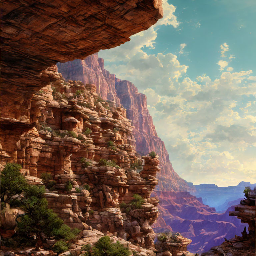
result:
[[[245,200],[241,200],[239,205],[235,206],[235,211],[229,212],[230,216],[237,216],[241,222],[248,223],[246,228],[241,232],[242,236],[235,235],[234,238],[223,242],[219,246],[214,246],[202,256],[251,256],[255,255],[255,188],[248,191]]]

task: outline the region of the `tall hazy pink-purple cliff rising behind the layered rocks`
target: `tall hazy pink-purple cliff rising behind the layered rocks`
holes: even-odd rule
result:
[[[161,173],[158,174],[159,190],[186,191],[188,185],[173,170],[164,142],[157,136],[152,117],[147,109],[147,99],[129,81],[122,81],[104,69],[104,60],[93,54],[85,60],[57,63],[63,77],[94,83],[97,93],[103,99],[111,100],[117,106],[121,103],[127,110],[127,118],[132,120],[136,140],[136,150],[142,155],[155,151],[159,155]]]

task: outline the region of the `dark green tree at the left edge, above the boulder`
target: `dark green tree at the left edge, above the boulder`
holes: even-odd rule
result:
[[[20,168],[19,164],[8,163],[1,172],[1,202],[8,202],[27,188],[27,180],[20,173]]]

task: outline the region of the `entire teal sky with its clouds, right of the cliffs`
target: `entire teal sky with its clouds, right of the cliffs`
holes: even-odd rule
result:
[[[146,94],[175,171],[256,182],[254,0],[163,0],[164,18],[99,56]]]

